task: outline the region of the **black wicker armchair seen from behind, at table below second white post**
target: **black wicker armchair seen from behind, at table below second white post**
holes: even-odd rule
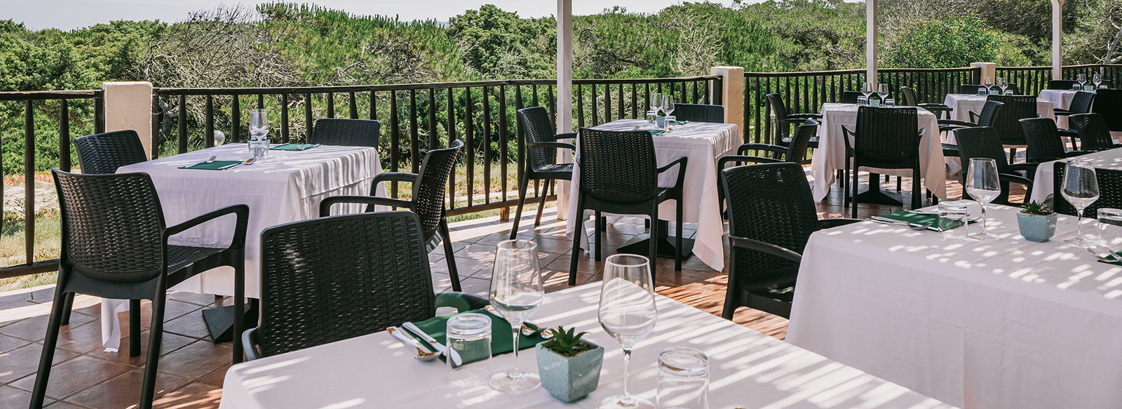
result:
[[[842,126],[846,158],[853,157],[853,192],[849,196],[849,203],[853,206],[852,217],[857,217],[857,175],[862,166],[912,170],[911,206],[912,209],[920,207],[922,196],[920,196],[919,142],[927,129],[917,133],[917,128],[919,128],[917,108],[859,107],[856,131],[845,125]],[[849,142],[850,137],[854,139],[853,143]],[[848,160],[845,173],[849,174]],[[877,181],[871,180],[870,183]],[[848,187],[843,187],[846,188]]]

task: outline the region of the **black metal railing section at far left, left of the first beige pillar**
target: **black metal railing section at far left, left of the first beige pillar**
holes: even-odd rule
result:
[[[17,234],[15,229],[20,228],[19,225],[22,221],[25,247],[22,263],[12,263],[11,265],[0,267],[0,279],[55,271],[58,269],[58,260],[54,258],[57,254],[52,254],[54,257],[52,255],[36,256],[35,227],[37,219],[39,219],[39,211],[37,211],[35,206],[36,172],[53,166],[57,166],[63,171],[70,171],[73,164],[72,135],[84,135],[104,130],[104,99],[102,98],[102,91],[0,92],[0,109],[3,112],[0,121],[6,124],[19,122],[20,115],[17,112],[22,110],[22,162],[20,163],[18,160],[15,163],[9,162],[7,164],[0,162],[0,176],[7,178],[8,175],[12,175],[22,178],[22,209],[6,209],[2,200],[0,200],[0,215],[3,215],[4,236],[15,236]],[[57,149],[44,149],[44,146],[38,146],[52,145],[47,140],[54,139],[53,135],[56,133]],[[39,136],[45,135],[52,136],[39,138]],[[54,155],[57,156],[53,157]],[[0,183],[0,198],[4,197],[4,183]]]

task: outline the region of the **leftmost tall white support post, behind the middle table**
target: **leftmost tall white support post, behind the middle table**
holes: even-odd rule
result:
[[[572,131],[572,0],[558,0],[558,133]],[[577,143],[573,140],[573,143]],[[568,153],[562,160],[571,160]],[[558,181],[558,219],[569,215],[569,182]]]

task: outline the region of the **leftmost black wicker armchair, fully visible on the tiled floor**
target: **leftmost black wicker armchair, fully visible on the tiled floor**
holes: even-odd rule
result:
[[[129,355],[140,355],[140,300],[151,300],[148,357],[145,361],[140,407],[151,408],[156,370],[164,334],[167,289],[206,270],[234,270],[233,329],[245,325],[246,225],[249,207],[222,208],[175,226],[166,226],[159,197],[147,173],[84,175],[53,170],[62,211],[62,254],[55,300],[74,293],[128,299]],[[168,245],[171,236],[218,219],[234,216],[237,227],[229,247]],[[43,355],[31,392],[31,405],[42,408],[58,342],[65,302],[50,307]],[[234,337],[233,363],[241,362],[241,339]]]

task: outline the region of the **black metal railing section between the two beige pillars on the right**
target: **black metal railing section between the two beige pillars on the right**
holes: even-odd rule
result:
[[[919,102],[942,102],[959,84],[978,83],[980,73],[977,67],[882,69],[877,79],[889,84],[890,98],[911,87]],[[778,129],[764,96],[782,94],[790,112],[818,112],[822,103],[840,101],[843,91],[861,90],[865,75],[865,70],[744,73],[744,142],[774,143]]]

